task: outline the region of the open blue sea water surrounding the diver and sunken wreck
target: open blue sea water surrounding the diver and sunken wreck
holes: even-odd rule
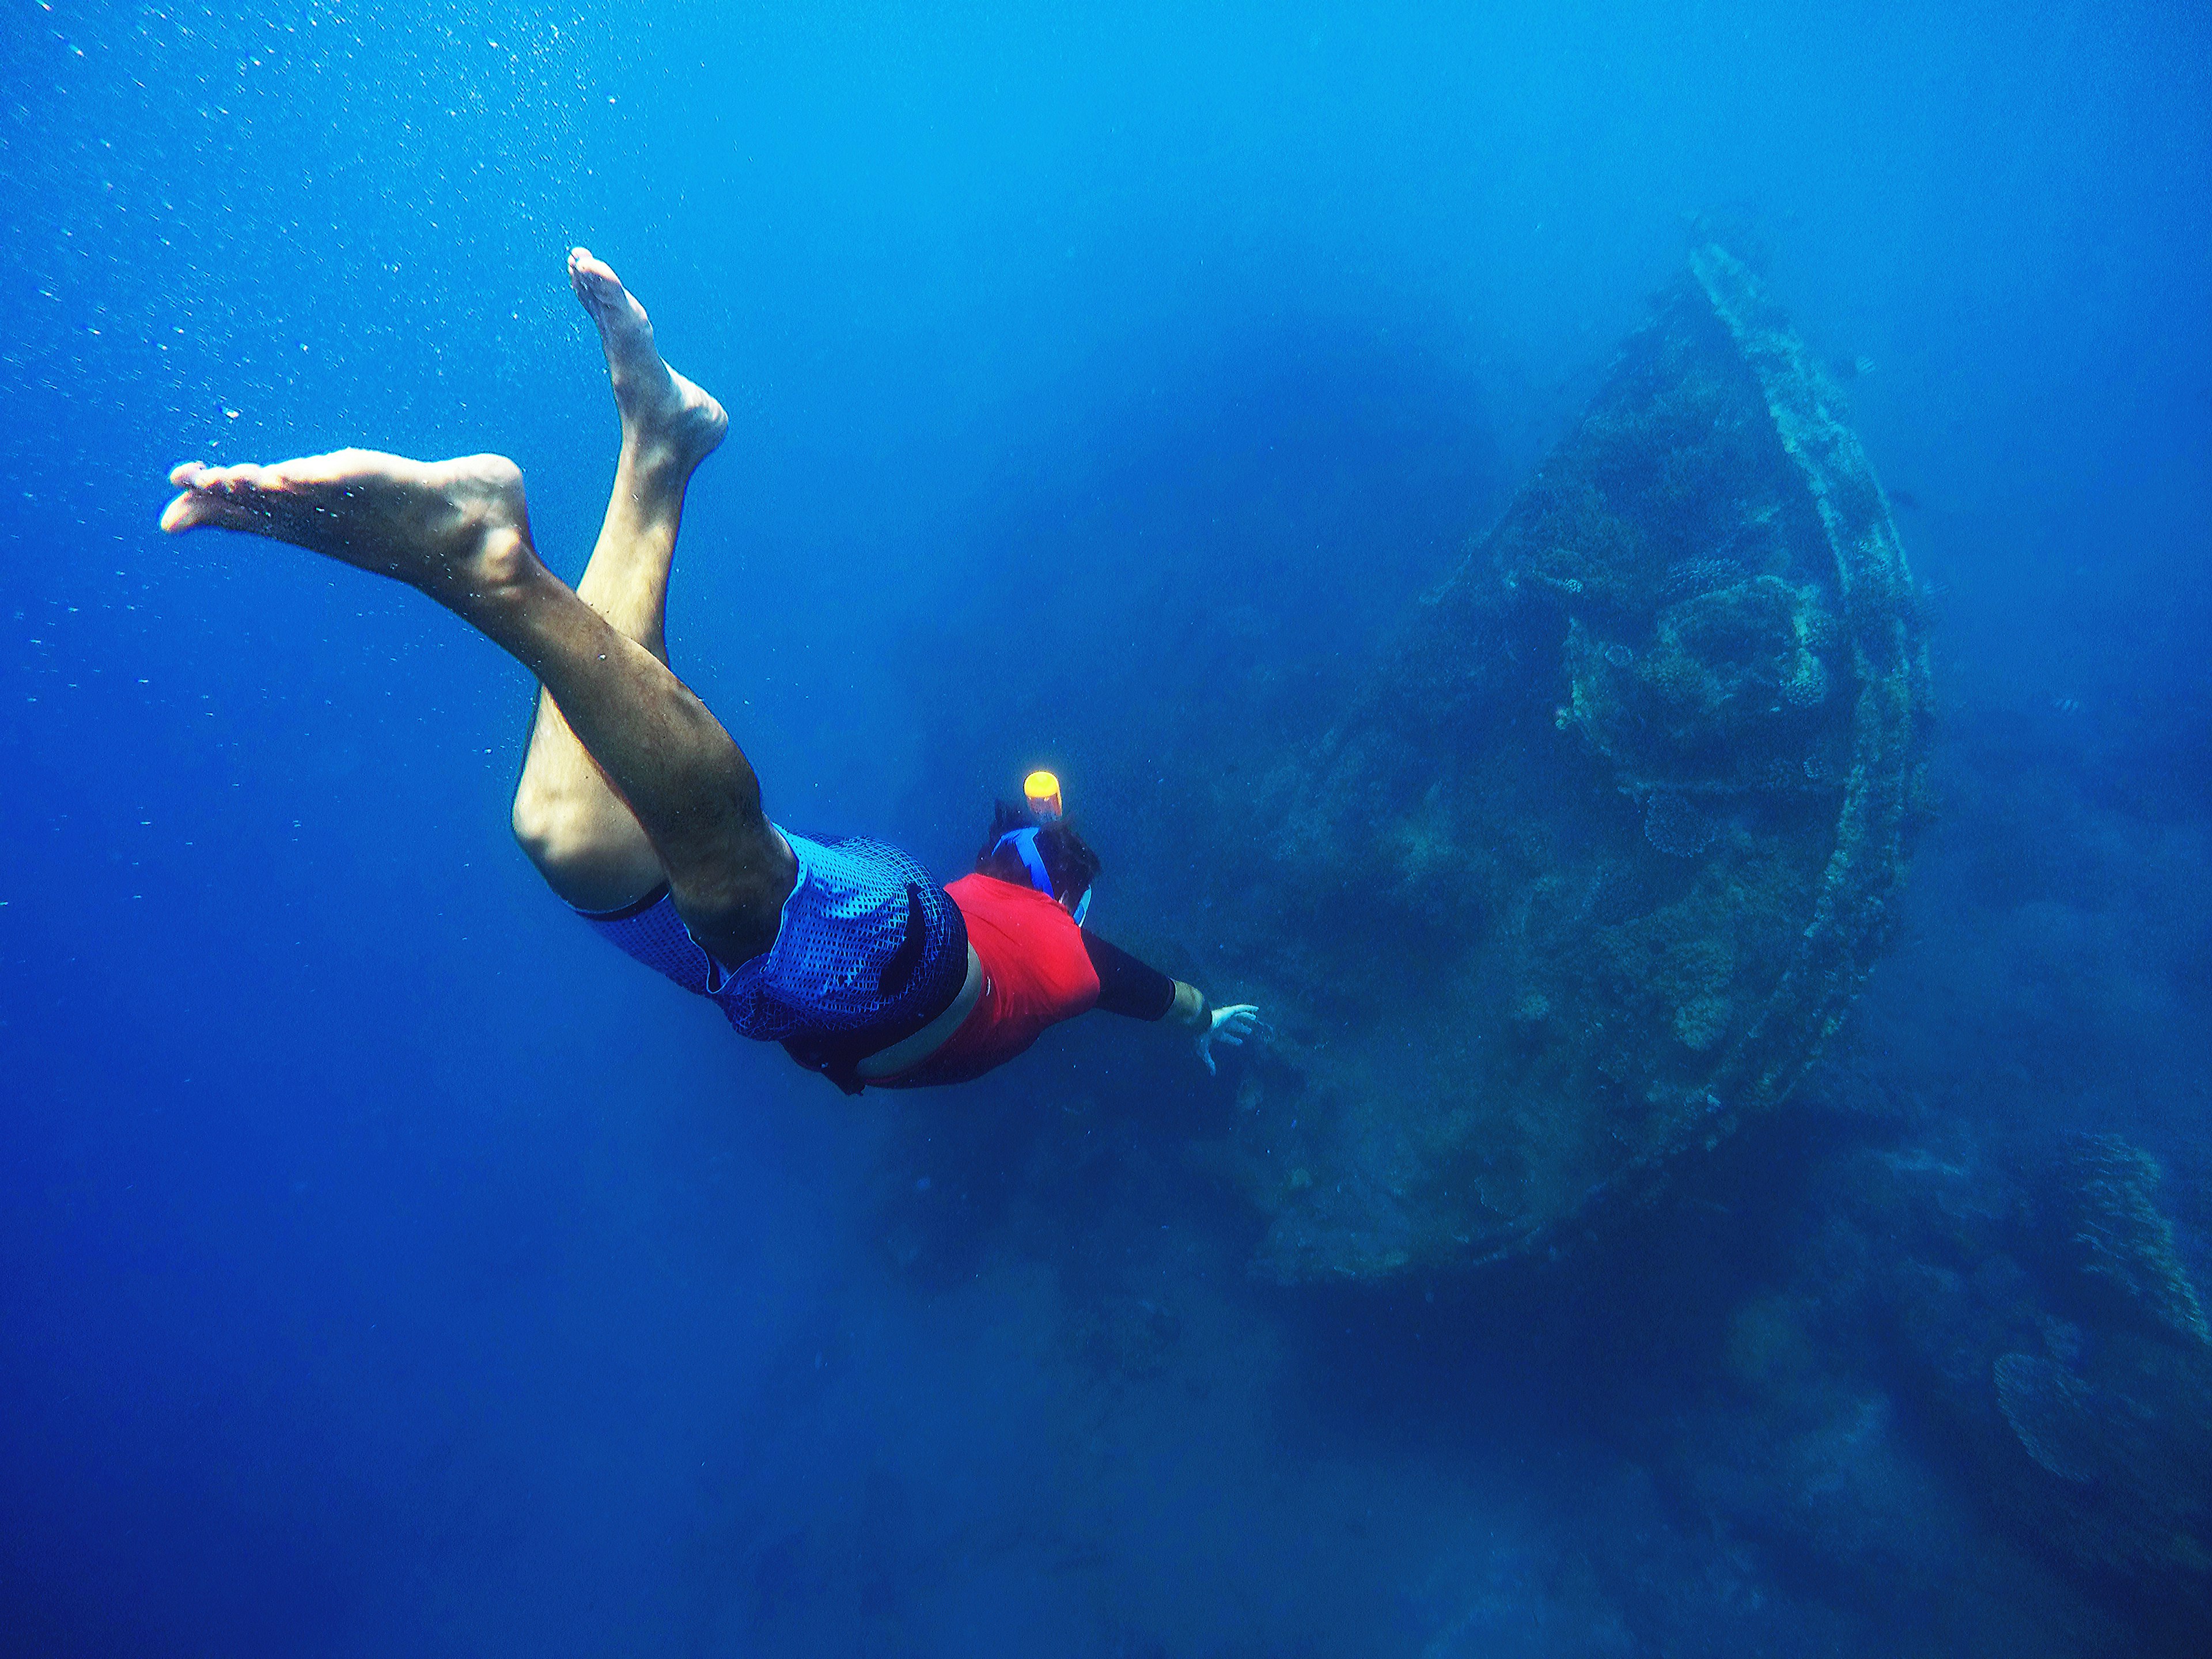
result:
[[[2201,11],[0,2],[0,1650],[2192,1650],[1905,1385],[1882,1540],[1792,1533],[1714,1356],[1867,1097],[2126,1133],[2212,1283]],[[1110,933],[1084,781],[1349,684],[1699,215],[1863,369],[1944,805],[1725,1219],[1571,1298],[1250,1283],[1135,1026],[845,1102],[542,891],[520,668],[155,533],[495,449],[573,577],[588,243],[732,411],[670,644],[770,810],[951,874],[1055,761]]]

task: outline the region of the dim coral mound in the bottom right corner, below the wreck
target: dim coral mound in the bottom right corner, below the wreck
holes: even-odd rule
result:
[[[2086,1582],[2124,1582],[2157,1621],[2203,1628],[2212,1347],[2150,1201],[2157,1166],[2110,1135],[2068,1146],[2028,1237],[2011,1228],[2031,1206],[1973,1192],[1969,1170],[1885,1175],[1893,1329],[1991,1513]]]

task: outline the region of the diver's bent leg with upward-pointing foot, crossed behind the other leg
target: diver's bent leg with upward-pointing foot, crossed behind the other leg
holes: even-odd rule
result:
[[[568,252],[568,285],[599,325],[622,414],[615,491],[575,593],[617,633],[666,664],[668,568],[684,520],[684,489],[692,469],[721,442],[730,418],[661,361],[644,305],[588,248]],[[668,878],[650,836],[546,690],[538,692],[513,827],[546,885],[577,909],[622,909]]]

